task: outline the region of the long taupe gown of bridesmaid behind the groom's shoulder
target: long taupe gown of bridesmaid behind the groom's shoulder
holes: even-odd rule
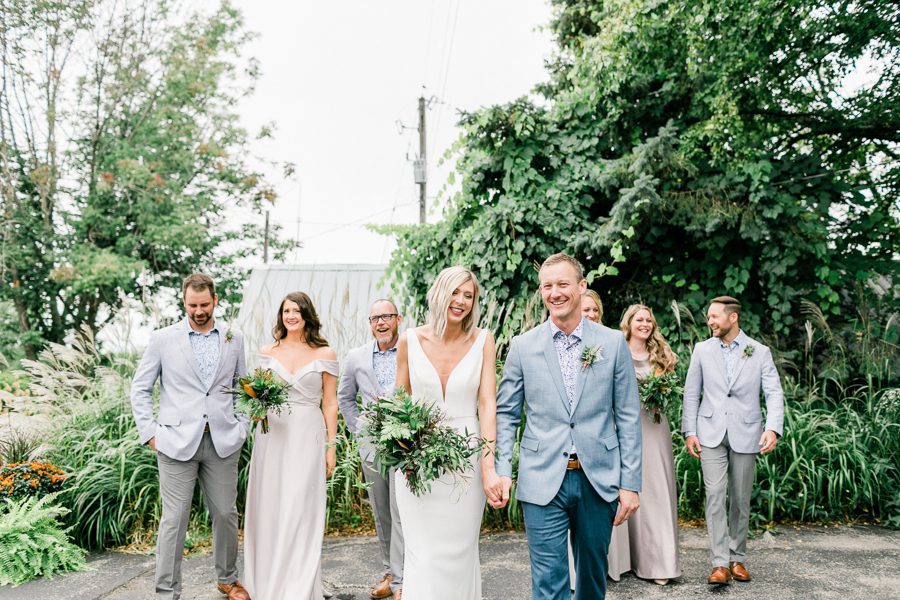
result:
[[[638,379],[650,374],[648,360],[632,361]],[[675,459],[668,420],[663,416],[654,423],[642,407],[641,436],[641,507],[628,521],[613,528],[609,543],[609,576],[615,581],[628,571],[641,579],[681,576]]]

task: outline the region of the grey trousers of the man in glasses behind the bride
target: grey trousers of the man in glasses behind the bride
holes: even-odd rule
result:
[[[375,531],[381,550],[384,572],[391,574],[391,589],[403,587],[403,530],[397,510],[394,478],[385,479],[374,463],[362,460],[363,476],[369,484],[369,504],[375,518]]]

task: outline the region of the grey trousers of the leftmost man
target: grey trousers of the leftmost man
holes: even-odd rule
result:
[[[220,583],[234,583],[237,573],[237,468],[241,451],[220,458],[209,433],[189,460],[156,454],[162,518],[156,542],[156,597],[181,596],[181,557],[191,516],[194,488],[200,489],[212,517],[213,559]]]

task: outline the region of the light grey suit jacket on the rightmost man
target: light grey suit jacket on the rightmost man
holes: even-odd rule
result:
[[[721,444],[727,432],[732,450],[756,454],[764,429],[781,436],[784,392],[769,348],[743,331],[735,340],[741,355],[730,386],[725,377],[725,358],[719,338],[710,338],[694,347],[684,382],[681,431],[685,435],[697,435],[700,444],[708,448]],[[754,349],[751,356],[744,354],[748,345]],[[765,427],[760,391],[766,399]]]

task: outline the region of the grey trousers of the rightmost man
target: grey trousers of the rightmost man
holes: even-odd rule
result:
[[[728,445],[726,434],[718,446],[701,447],[700,465],[706,488],[706,529],[713,567],[744,562],[756,454],[735,452]],[[726,492],[729,496],[727,516]]]

